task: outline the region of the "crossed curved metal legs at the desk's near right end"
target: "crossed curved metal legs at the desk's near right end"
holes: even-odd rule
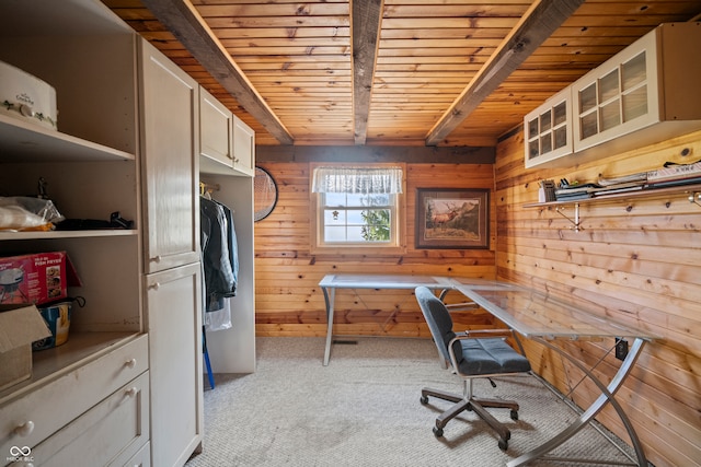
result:
[[[601,390],[601,395],[570,427],[567,427],[562,432],[553,436],[550,441],[547,441],[545,443],[541,444],[539,447],[536,447],[533,451],[526,453],[520,457],[517,457],[508,462],[506,465],[508,467],[522,466],[533,459],[542,457],[544,454],[549,453],[550,451],[554,450],[555,447],[560,446],[562,443],[564,443],[565,441],[574,436],[581,429],[583,429],[589,421],[591,421],[597,416],[597,413],[599,413],[601,409],[604,409],[604,407],[607,404],[610,402],[611,406],[613,406],[613,408],[616,409],[621,421],[625,425],[628,435],[630,436],[631,443],[633,444],[633,447],[635,450],[635,455],[637,456],[637,465],[641,467],[646,467],[647,459],[645,458],[645,453],[643,453],[643,446],[640,442],[640,439],[637,437],[637,434],[635,433],[635,430],[633,429],[633,425],[630,419],[628,418],[625,412],[623,412],[623,408],[620,406],[620,404],[618,404],[618,400],[613,398],[613,395],[622,386],[623,382],[625,381],[625,377],[629,375],[629,373],[633,369],[633,365],[635,364],[635,360],[637,360],[637,357],[640,355],[643,349],[643,346],[645,345],[645,340],[635,338],[628,353],[628,357],[625,358],[625,360],[623,360],[623,363],[621,363],[621,366],[616,373],[616,376],[613,376],[613,378],[609,383],[608,387],[605,386],[604,383],[601,383],[596,377],[596,375],[594,375],[594,373],[587,370],[581,362],[575,360],[573,357],[571,357],[566,352],[563,352],[561,349],[559,349],[558,347],[553,346],[552,343],[543,339],[533,339],[533,340],[556,351],[558,353],[565,357],[567,360],[570,360],[570,362],[576,365],[579,370],[584,371],[586,375],[599,387],[599,389]]]

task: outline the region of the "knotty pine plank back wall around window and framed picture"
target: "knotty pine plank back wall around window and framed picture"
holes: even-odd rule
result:
[[[493,164],[407,164],[407,246],[405,254],[392,256],[312,255],[309,163],[268,162],[258,165],[273,175],[279,192],[275,210],[255,223],[256,332],[260,336],[325,336],[324,299],[318,287],[325,275],[376,272],[495,277],[494,215],[491,217],[490,250],[415,249],[413,223],[416,188],[492,189]],[[494,197],[491,201],[494,212]],[[459,295],[453,301],[459,301]],[[363,290],[357,294],[338,291],[334,323],[334,334],[340,335],[429,336],[410,291]],[[493,319],[489,314],[478,313],[466,316],[461,323],[491,326]]]

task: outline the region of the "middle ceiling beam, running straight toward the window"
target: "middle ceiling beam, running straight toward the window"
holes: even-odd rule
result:
[[[365,144],[367,139],[382,4],[383,0],[350,0],[353,118],[356,144]]]

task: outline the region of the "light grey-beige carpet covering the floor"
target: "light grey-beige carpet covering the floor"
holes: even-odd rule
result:
[[[475,395],[520,405],[518,421],[508,410],[491,410],[512,431],[508,451],[473,412],[437,439],[432,428],[449,402],[432,398],[423,406],[421,389],[460,393],[461,383],[440,369],[434,343],[348,340],[357,343],[334,345],[323,366],[323,338],[258,338],[257,371],[218,374],[215,389],[205,392],[204,451],[186,466],[503,466],[576,418],[533,377],[498,378],[496,389],[480,380]],[[551,454],[628,462],[589,427]]]

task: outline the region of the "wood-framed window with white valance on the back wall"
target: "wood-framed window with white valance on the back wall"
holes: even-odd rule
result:
[[[398,166],[313,168],[312,247],[329,253],[333,248],[395,253],[403,243],[402,173]]]

